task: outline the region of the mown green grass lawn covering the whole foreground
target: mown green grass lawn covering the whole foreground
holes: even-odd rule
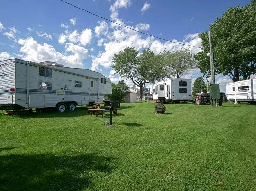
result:
[[[256,105],[0,112],[0,190],[256,190]]]

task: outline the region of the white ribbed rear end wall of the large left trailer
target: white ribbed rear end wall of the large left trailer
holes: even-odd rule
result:
[[[15,88],[15,59],[0,61],[0,104],[8,104],[8,95],[15,102],[15,92],[10,88]]]

